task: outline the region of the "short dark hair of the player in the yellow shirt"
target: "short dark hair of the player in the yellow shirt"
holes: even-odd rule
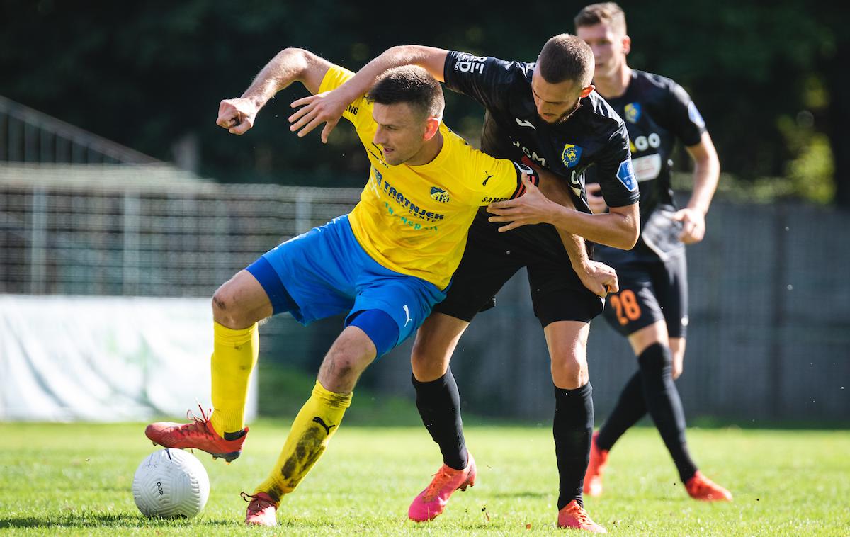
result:
[[[404,65],[384,72],[369,90],[366,99],[381,105],[407,103],[425,117],[442,117],[445,108],[443,88],[436,78],[417,65]]]

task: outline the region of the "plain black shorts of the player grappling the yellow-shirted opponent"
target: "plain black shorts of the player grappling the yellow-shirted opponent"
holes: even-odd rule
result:
[[[497,226],[483,218],[476,218],[469,229],[461,264],[445,300],[433,311],[471,321],[523,267],[528,269],[534,314],[543,327],[558,320],[589,323],[602,313],[604,301],[582,285],[551,225],[499,233]]]

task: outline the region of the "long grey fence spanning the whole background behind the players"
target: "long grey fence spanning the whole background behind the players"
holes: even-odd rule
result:
[[[357,189],[222,185],[163,167],[0,167],[0,292],[209,297],[259,254],[354,206]],[[689,247],[690,325],[678,381],[690,416],[847,421],[850,215],[717,201]],[[479,315],[453,361],[466,410],[548,421],[546,344],[524,274]],[[261,328],[265,362],[315,368],[339,319]],[[512,336],[507,337],[506,334]],[[363,384],[412,395],[410,342]],[[592,325],[598,414],[636,370]]]

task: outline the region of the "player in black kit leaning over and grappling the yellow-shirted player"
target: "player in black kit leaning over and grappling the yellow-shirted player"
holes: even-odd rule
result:
[[[638,184],[632,172],[626,127],[590,84],[592,51],[575,36],[550,39],[538,62],[524,63],[418,46],[395,47],[360,70],[333,93],[301,99],[292,130],[328,122],[326,139],[343,102],[360,95],[382,71],[396,65],[425,67],[439,80],[487,109],[481,149],[546,167],[569,186],[578,211],[548,201],[533,185],[510,203],[479,212],[467,250],[446,300],[416,335],[413,365],[416,405],[445,464],[411,504],[409,517],[433,519],[456,489],[473,484],[475,465],[464,444],[460,397],[449,360],[469,321],[501,286],[527,267],[535,314],[552,359],[555,392],[553,434],[560,477],[558,525],[603,531],[581,502],[593,426],[587,376],[587,332],[603,301],[588,291],[564,250],[559,230],[594,242],[631,248],[638,237]],[[304,132],[302,131],[303,134]],[[599,170],[609,212],[592,215],[584,195],[583,172]],[[507,225],[501,223],[510,222]],[[500,225],[502,231],[500,232]],[[515,229],[519,228],[519,229]],[[570,244],[570,240],[564,240]],[[598,294],[603,295],[604,291]]]

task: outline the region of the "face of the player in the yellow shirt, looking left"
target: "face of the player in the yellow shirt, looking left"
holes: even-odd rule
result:
[[[372,118],[377,123],[372,141],[381,146],[383,158],[389,165],[398,166],[422,150],[428,121],[416,114],[410,105],[375,103]]]

